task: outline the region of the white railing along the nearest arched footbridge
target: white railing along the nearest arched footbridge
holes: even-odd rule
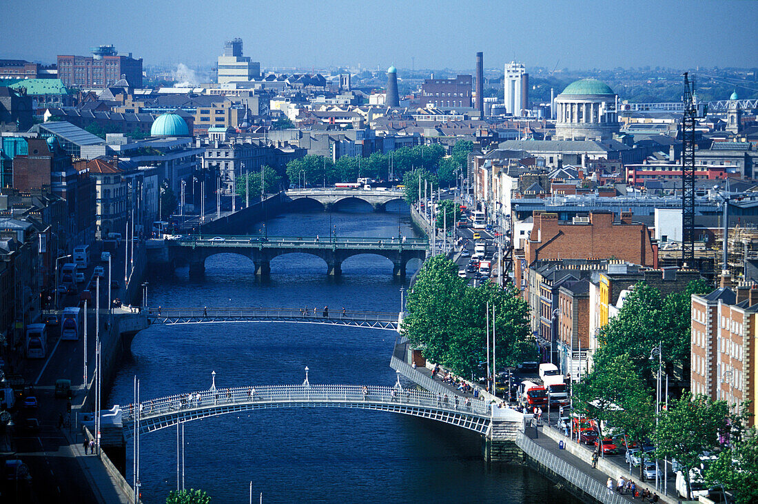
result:
[[[265,387],[235,387],[199,390],[191,393],[151,399],[139,404],[140,418],[173,415],[191,409],[254,403],[302,402],[371,402],[388,405],[416,405],[422,408],[443,409],[469,415],[490,416],[490,405],[484,400],[444,396],[420,390],[396,387],[362,387],[360,385],[267,385]],[[121,421],[134,421],[135,405],[121,409]]]

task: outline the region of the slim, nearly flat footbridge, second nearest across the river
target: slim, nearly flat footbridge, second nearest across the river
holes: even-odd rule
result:
[[[378,311],[293,308],[143,308],[150,324],[221,324],[225,322],[287,322],[397,330],[399,314]]]

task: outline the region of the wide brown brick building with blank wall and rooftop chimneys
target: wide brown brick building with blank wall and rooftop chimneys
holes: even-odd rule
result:
[[[558,214],[534,212],[534,226],[525,240],[526,261],[531,265],[537,259],[561,258],[614,258],[656,268],[658,249],[647,226],[632,223],[626,212],[618,224],[610,211],[590,212],[570,222],[559,221]]]

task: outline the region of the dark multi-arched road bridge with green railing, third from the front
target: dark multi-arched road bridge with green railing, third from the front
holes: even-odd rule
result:
[[[429,243],[427,239],[406,236],[177,236],[149,240],[147,248],[153,264],[189,264],[190,274],[202,274],[205,259],[211,255],[231,253],[250,258],[255,264],[255,274],[268,276],[271,259],[299,252],[324,259],[331,275],[341,274],[343,261],[352,255],[382,255],[392,261],[393,274],[404,277],[408,261],[413,258],[423,261]]]

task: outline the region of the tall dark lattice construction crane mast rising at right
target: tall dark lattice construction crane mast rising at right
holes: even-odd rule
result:
[[[684,116],[681,119],[681,262],[695,262],[695,123],[706,110],[697,104],[694,79],[684,72]]]

